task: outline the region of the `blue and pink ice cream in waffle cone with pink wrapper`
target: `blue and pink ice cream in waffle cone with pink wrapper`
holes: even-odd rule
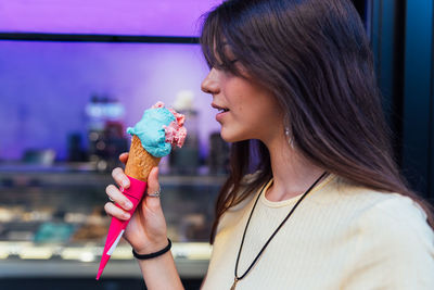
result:
[[[135,127],[127,129],[127,133],[132,135],[129,156],[125,167],[125,174],[130,180],[130,186],[120,188],[120,191],[132,203],[132,209],[129,210],[131,216],[146,190],[148,176],[151,169],[158,166],[162,156],[170,153],[171,147],[182,147],[187,136],[183,121],[184,116],[182,114],[177,113],[175,110],[165,109],[164,103],[157,102],[151,109],[144,111],[142,119]],[[143,148],[142,142],[144,142],[143,144],[149,144],[146,149]],[[97,280],[102,275],[128,223],[129,219],[120,220],[112,217]]]

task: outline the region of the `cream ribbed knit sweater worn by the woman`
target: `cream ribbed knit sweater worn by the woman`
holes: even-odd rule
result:
[[[242,234],[258,193],[220,219],[202,289],[230,289]],[[244,241],[239,276],[298,198],[271,202],[261,194]],[[409,198],[330,175],[302,201],[237,290],[434,290],[434,234],[425,218]]]

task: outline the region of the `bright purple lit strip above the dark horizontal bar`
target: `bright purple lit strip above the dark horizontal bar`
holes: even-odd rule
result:
[[[221,0],[0,0],[0,33],[197,36]]]

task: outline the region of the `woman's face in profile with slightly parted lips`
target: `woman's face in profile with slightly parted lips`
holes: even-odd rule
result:
[[[267,142],[283,134],[283,111],[271,92],[258,84],[213,67],[202,81],[202,90],[213,96],[212,106],[227,142]]]

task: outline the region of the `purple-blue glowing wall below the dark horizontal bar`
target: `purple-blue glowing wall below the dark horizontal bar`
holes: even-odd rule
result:
[[[125,105],[130,126],[162,100],[190,90],[200,111],[202,150],[219,130],[212,97],[201,91],[208,68],[199,45],[0,41],[0,160],[26,149],[67,154],[67,136],[87,138],[86,105],[93,93]]]

